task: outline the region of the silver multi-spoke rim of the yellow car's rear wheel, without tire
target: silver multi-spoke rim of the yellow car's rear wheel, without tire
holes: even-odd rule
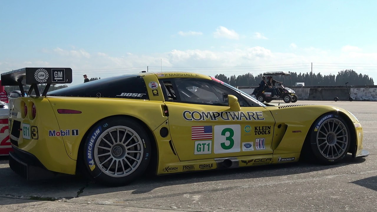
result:
[[[134,172],[143,160],[143,143],[139,135],[126,126],[104,131],[94,146],[98,168],[110,177],[124,177]]]

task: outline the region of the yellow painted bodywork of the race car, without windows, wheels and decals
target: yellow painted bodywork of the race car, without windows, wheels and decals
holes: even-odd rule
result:
[[[156,174],[171,174],[186,171],[202,171],[219,168],[221,161],[229,159],[232,167],[256,166],[271,163],[287,163],[299,160],[303,142],[310,133],[314,120],[326,112],[338,111],[343,114],[353,125],[351,130],[356,134],[357,154],[363,149],[363,132],[361,124],[346,110],[334,106],[308,105],[308,106],[254,106],[241,108],[244,114],[259,113],[264,120],[185,120],[184,111],[228,112],[229,106],[212,106],[204,104],[187,104],[168,102],[164,100],[161,85],[150,89],[151,81],[158,83],[163,78],[202,78],[211,80],[211,77],[194,73],[164,72],[140,73],[148,89],[149,100],[132,100],[121,98],[87,98],[87,97],[19,97],[11,101],[11,120],[21,121],[31,126],[38,127],[38,139],[18,139],[18,148],[35,155],[38,160],[49,170],[66,174],[75,174],[78,151],[81,142],[86,139],[86,133],[98,121],[106,117],[126,115],[143,122],[152,132],[157,147],[158,163]],[[155,90],[155,91],[153,91]],[[158,94],[158,95],[153,95]],[[28,105],[29,112],[23,114],[24,102]],[[31,120],[31,105],[37,108],[37,116]],[[169,110],[169,117],[164,116],[164,106]],[[82,111],[80,114],[59,114],[57,109],[72,109]],[[15,115],[17,114],[17,115]],[[254,116],[255,118],[256,116]],[[217,135],[215,126],[231,125],[240,129],[240,144],[255,142],[256,138],[265,138],[265,149],[254,151],[241,151],[231,153],[214,152],[214,140]],[[236,126],[237,125],[237,126]],[[238,126],[239,125],[239,126]],[[195,141],[191,139],[192,126],[213,126],[210,154],[195,154]],[[250,126],[250,128],[247,128]],[[271,126],[271,133],[255,135],[255,127]],[[169,129],[166,138],[160,136],[162,127]],[[21,124],[22,128],[22,124]],[[9,128],[11,129],[11,128]],[[78,129],[77,136],[49,137],[49,131],[65,131]],[[262,128],[261,128],[262,129]],[[249,131],[250,130],[250,131]],[[249,131],[249,132],[247,132]],[[279,158],[294,158],[282,162]],[[220,162],[219,162],[220,161]]]

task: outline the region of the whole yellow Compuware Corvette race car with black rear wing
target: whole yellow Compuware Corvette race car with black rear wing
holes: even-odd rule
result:
[[[12,170],[27,179],[84,172],[121,186],[156,175],[366,157],[357,118],[326,105],[273,106],[207,75],[128,74],[47,92],[72,82],[70,68],[3,73],[31,85],[9,102]],[[40,94],[37,84],[47,84]],[[35,95],[32,94],[34,89]]]

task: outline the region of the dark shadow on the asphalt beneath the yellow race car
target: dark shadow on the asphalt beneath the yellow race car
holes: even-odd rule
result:
[[[0,175],[3,175],[4,171],[6,171],[6,175],[2,177],[6,177],[8,179],[4,180],[2,186],[4,186],[3,195],[7,195],[4,193],[5,190],[24,190],[23,196],[26,197],[33,197],[35,192],[33,191],[41,191],[38,192],[38,196],[41,197],[49,197],[49,194],[54,194],[54,198],[77,198],[83,196],[90,196],[96,194],[107,194],[112,192],[121,192],[121,191],[130,191],[131,194],[143,194],[152,191],[153,189],[165,186],[173,186],[173,185],[182,185],[182,184],[191,184],[191,183],[201,183],[207,181],[222,181],[222,180],[242,180],[242,179],[252,179],[252,178],[266,178],[266,177],[279,177],[279,176],[289,176],[295,174],[302,174],[302,173],[310,173],[310,172],[317,172],[327,169],[334,169],[337,167],[348,166],[351,164],[358,164],[363,163],[365,158],[352,158],[351,155],[347,155],[345,160],[342,163],[334,164],[334,165],[321,165],[311,163],[310,161],[299,161],[297,163],[287,163],[287,164],[276,164],[276,165],[267,165],[267,166],[250,166],[250,167],[242,167],[236,169],[221,169],[221,170],[210,170],[210,171],[199,171],[199,172],[185,172],[185,173],[177,173],[177,174],[169,174],[169,175],[145,175],[138,178],[136,181],[120,187],[107,187],[101,184],[95,183],[93,181],[88,181],[80,176],[74,175],[61,175],[59,177],[49,179],[49,180],[36,180],[36,181],[25,181],[25,179],[21,178],[17,174],[15,174],[9,169],[0,168]],[[4,179],[4,178],[3,178]],[[375,182],[374,179],[369,179],[366,181],[355,181],[353,183],[356,184],[365,184]],[[7,187],[7,188],[6,188]],[[373,185],[371,186],[373,187]],[[70,190],[69,190],[70,189]],[[76,190],[77,195],[76,195]],[[217,188],[216,190],[224,190],[229,189],[227,188]],[[373,187],[372,189],[376,189]],[[70,197],[67,196],[58,196],[62,190],[69,190],[70,194],[75,193]],[[30,192],[28,192],[30,191]],[[87,192],[86,192],[87,191]],[[89,192],[90,191],[90,192]],[[17,196],[13,196],[12,198],[17,198]],[[144,197],[141,197],[144,198]],[[148,198],[148,197],[146,197]],[[37,199],[35,199],[37,200]],[[0,205],[2,205],[0,203]]]

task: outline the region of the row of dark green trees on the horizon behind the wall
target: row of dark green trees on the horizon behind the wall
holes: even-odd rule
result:
[[[295,83],[305,83],[305,86],[311,86],[313,81],[313,86],[334,86],[334,85],[373,85],[374,81],[372,77],[366,74],[357,74],[354,70],[343,70],[339,71],[337,75],[329,74],[322,75],[321,73],[311,75],[310,72],[297,74],[297,72],[289,72],[292,78],[292,85]],[[243,75],[231,75],[230,77],[224,74],[216,74],[215,78],[230,84],[231,86],[258,86],[262,81],[262,75],[253,75],[251,73]],[[274,80],[283,81],[284,76],[274,76]],[[290,76],[285,76],[285,85],[291,86]],[[266,75],[267,80],[267,75]]]

